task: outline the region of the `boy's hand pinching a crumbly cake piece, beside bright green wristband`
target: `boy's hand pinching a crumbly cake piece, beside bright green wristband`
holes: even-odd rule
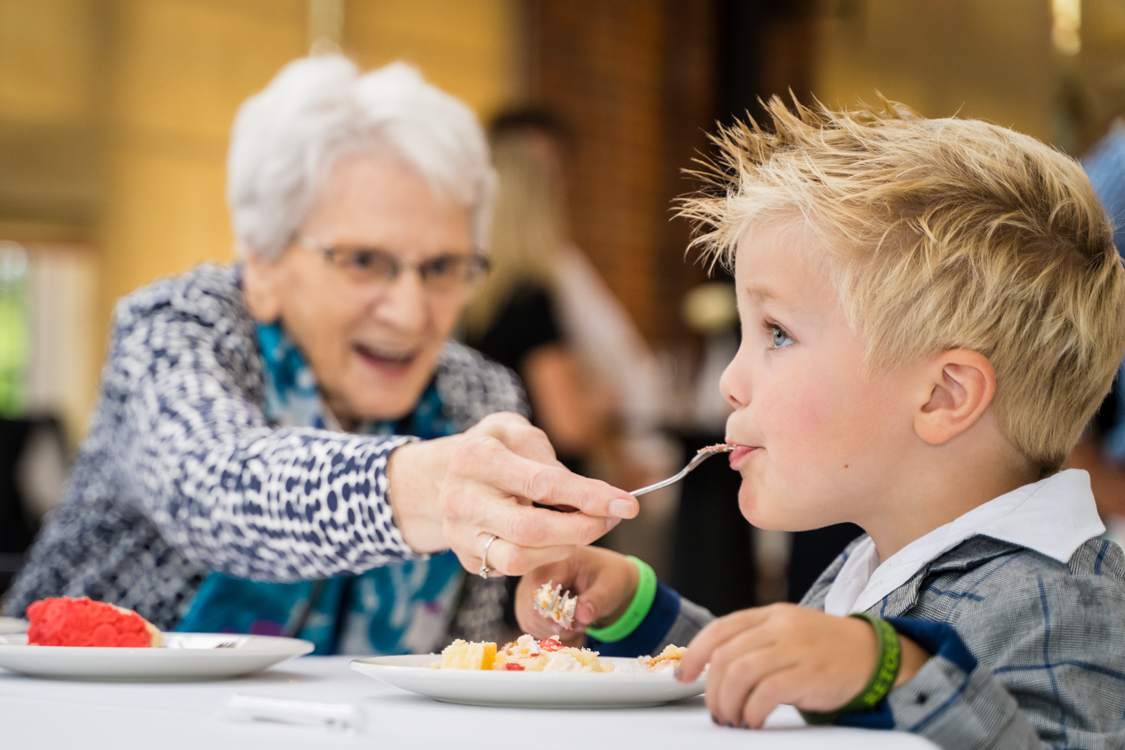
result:
[[[536,638],[561,635],[564,643],[580,641],[573,636],[580,636],[594,623],[609,624],[624,614],[639,578],[637,566],[626,555],[597,546],[579,546],[566,560],[537,568],[520,580],[515,589],[515,617],[520,627]],[[534,609],[534,593],[549,580],[578,597],[570,630],[562,630]]]

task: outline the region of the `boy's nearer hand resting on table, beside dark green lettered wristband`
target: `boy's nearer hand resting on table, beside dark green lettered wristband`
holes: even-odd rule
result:
[[[894,687],[929,659],[914,641],[900,635],[899,642],[902,662]],[[710,623],[687,647],[676,677],[688,683],[710,662],[711,717],[759,729],[782,703],[817,712],[845,705],[867,685],[876,650],[875,631],[863,620],[773,604]]]

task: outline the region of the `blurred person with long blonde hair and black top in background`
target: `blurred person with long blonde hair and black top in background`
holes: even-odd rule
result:
[[[520,374],[532,421],[564,463],[640,486],[667,469],[656,437],[667,386],[624,306],[570,238],[569,130],[549,111],[512,110],[494,120],[492,146],[492,272],[466,308],[465,341]]]

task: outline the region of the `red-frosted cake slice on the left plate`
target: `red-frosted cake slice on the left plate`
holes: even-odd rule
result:
[[[57,596],[27,607],[29,645],[154,648],[160,630],[133,612],[89,597]]]

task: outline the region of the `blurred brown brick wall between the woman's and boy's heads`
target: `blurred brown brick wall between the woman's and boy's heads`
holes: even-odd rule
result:
[[[684,334],[684,262],[672,200],[714,112],[714,8],[698,2],[529,0],[528,94],[575,133],[573,231],[649,340]]]

